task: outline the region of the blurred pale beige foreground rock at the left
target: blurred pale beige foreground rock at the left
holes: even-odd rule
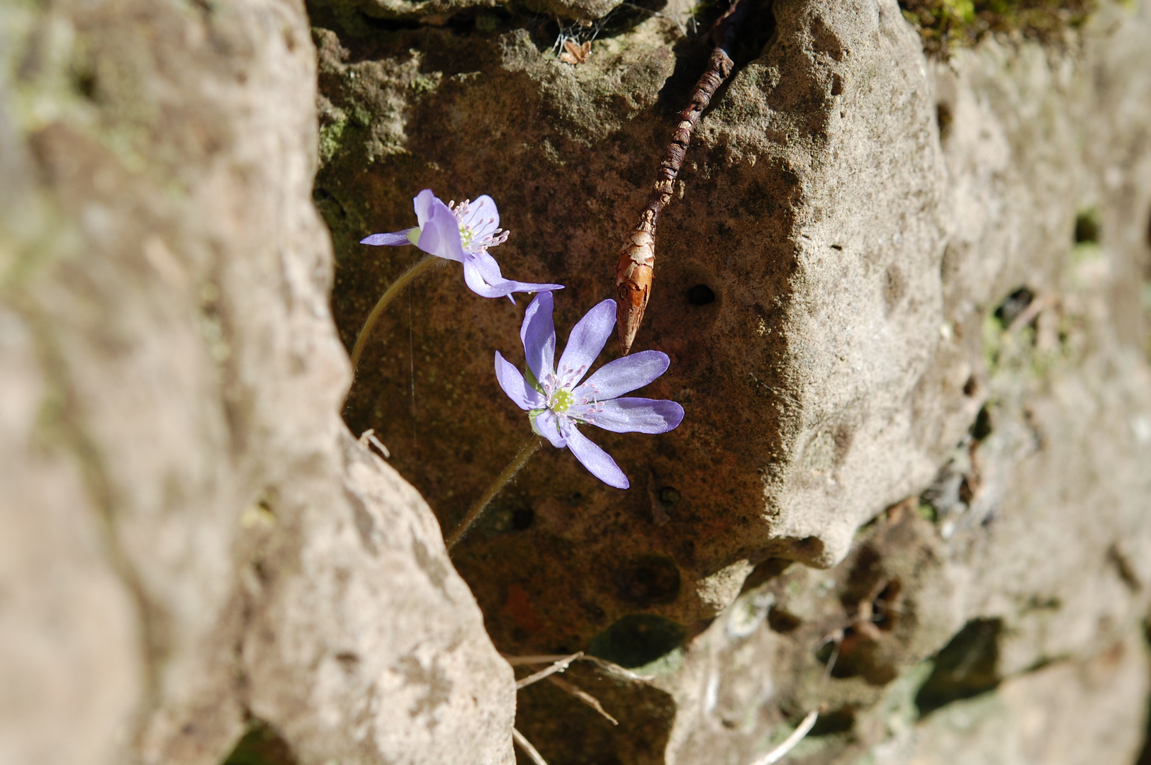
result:
[[[511,671],[338,419],[304,8],[0,8],[0,760],[506,763]],[[460,755],[460,752],[466,752]]]

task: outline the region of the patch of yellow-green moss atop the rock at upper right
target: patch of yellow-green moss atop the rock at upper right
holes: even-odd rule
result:
[[[1062,39],[1095,10],[1096,0],[900,0],[904,17],[920,30],[923,49],[946,60],[991,33],[1041,43]]]

